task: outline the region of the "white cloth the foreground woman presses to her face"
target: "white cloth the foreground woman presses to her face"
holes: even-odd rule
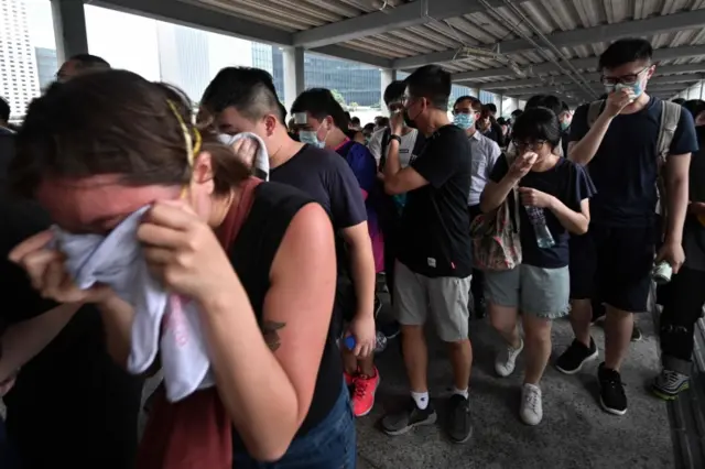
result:
[[[54,227],[55,248],[79,288],[109,285],[134,308],[128,370],[145,372],[160,352],[166,397],[180,401],[215,383],[196,303],[167,292],[149,272],[137,240],[142,207],[108,236],[72,234]]]

